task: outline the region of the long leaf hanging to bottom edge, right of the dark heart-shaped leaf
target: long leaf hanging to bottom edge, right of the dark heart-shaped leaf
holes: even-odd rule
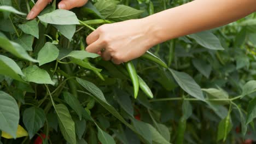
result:
[[[75,125],[67,107],[63,104],[55,105],[58,122],[64,139],[69,143],[76,143]]]

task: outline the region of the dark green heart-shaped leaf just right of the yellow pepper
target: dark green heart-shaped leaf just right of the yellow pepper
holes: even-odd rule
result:
[[[30,139],[32,139],[37,131],[44,126],[46,119],[44,110],[33,106],[26,109],[22,117]]]

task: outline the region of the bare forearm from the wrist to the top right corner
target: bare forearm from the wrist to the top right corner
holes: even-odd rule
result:
[[[143,20],[154,43],[226,25],[253,13],[255,0],[195,0]]]

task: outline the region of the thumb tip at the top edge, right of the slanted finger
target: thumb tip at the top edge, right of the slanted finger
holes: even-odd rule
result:
[[[59,4],[58,7],[59,9],[72,9],[75,7],[82,7],[84,4],[86,4],[88,0],[62,0]]]

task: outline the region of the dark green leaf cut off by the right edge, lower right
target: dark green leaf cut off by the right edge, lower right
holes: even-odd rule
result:
[[[247,107],[246,124],[249,124],[250,122],[252,122],[255,117],[256,117],[256,98],[252,99],[249,102],[249,105]]]

